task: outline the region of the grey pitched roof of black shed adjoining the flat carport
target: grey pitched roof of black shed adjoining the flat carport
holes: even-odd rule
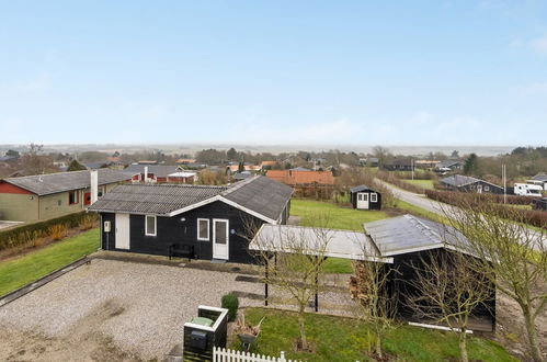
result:
[[[454,228],[413,215],[402,215],[363,225],[381,257],[437,248],[466,252],[467,239]]]

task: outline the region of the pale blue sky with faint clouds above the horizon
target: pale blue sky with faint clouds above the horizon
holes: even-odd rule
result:
[[[545,145],[547,1],[3,1],[0,144]]]

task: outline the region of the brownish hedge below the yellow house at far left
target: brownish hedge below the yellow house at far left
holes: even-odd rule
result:
[[[65,225],[67,228],[78,227],[86,217],[98,216],[94,213],[80,212],[0,230],[0,250],[24,246],[35,239],[47,237],[49,228],[56,225]]]

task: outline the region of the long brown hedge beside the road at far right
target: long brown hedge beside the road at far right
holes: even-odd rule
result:
[[[460,205],[461,203],[465,203],[469,206],[474,206],[483,202],[490,202],[490,208],[504,218],[512,219],[514,222],[525,222],[526,224],[533,226],[547,228],[547,212],[537,210],[516,210],[511,206],[502,205],[500,203],[503,202],[503,195],[436,190],[425,190],[425,195],[432,200],[452,205]],[[508,196],[508,203],[518,204],[518,202],[522,202],[522,197],[526,196]],[[510,202],[510,200],[512,202]],[[529,204],[531,197],[526,197],[526,204]]]

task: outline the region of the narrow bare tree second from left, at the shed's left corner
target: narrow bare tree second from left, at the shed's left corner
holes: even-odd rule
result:
[[[364,256],[371,254],[364,250]],[[397,294],[389,287],[397,270],[379,261],[354,261],[355,276],[350,290],[363,308],[364,319],[374,330],[374,353],[384,358],[381,341],[385,331],[392,326],[397,313]]]

